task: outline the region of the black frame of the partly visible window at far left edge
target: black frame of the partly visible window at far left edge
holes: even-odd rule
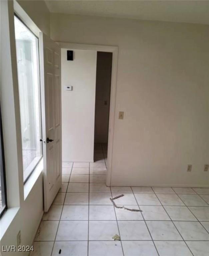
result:
[[[2,117],[1,117],[1,108],[0,108],[0,134],[1,134],[1,155],[0,157],[1,159],[1,163],[2,163],[2,174],[1,174],[1,178],[3,176],[3,184],[4,184],[4,202],[5,202],[5,206],[4,208],[2,208],[1,212],[0,212],[0,218],[3,216],[3,214],[5,213],[5,211],[7,210],[7,185],[6,185],[6,168],[5,168],[5,157],[4,157],[4,138],[3,138],[3,128],[2,128]],[[1,188],[1,197],[2,197],[2,188]],[[2,199],[1,199],[2,200]]]

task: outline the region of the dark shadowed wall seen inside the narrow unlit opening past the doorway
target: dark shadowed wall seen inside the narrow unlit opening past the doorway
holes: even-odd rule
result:
[[[108,142],[112,53],[97,52],[95,143]],[[106,105],[105,105],[106,101]]]

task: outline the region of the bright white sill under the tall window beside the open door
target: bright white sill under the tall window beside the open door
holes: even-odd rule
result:
[[[31,189],[33,188],[34,184],[36,183],[43,169],[44,169],[44,162],[42,158],[24,185],[24,200],[26,200],[27,196],[29,195]]]

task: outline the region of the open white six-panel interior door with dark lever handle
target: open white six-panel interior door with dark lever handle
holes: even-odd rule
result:
[[[62,185],[60,47],[40,33],[41,102],[44,158],[44,211]],[[44,70],[44,72],[43,72]]]

